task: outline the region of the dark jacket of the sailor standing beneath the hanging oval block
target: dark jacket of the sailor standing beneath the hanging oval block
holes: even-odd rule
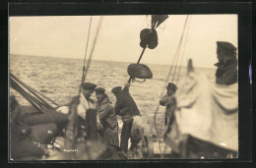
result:
[[[133,117],[140,116],[140,110],[138,109],[134,99],[129,93],[129,86],[126,85],[117,95],[116,95],[116,105],[114,107],[115,113],[122,117]]]

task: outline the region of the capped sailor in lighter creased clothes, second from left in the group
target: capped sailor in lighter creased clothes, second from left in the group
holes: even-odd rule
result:
[[[96,111],[102,126],[101,141],[119,146],[117,117],[104,88],[96,87],[96,99]]]

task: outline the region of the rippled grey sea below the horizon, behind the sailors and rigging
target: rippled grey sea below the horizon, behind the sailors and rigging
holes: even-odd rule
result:
[[[114,105],[116,99],[111,93],[111,89],[114,86],[124,86],[124,84],[127,83],[129,79],[127,67],[129,64],[131,63],[92,60],[87,73],[86,82],[104,87],[106,94]],[[9,57],[9,71],[11,73],[25,84],[29,84],[32,88],[60,105],[69,103],[74,96],[79,94],[83,65],[83,59],[74,58],[25,55],[10,55]],[[162,90],[165,87],[170,65],[147,64],[147,66],[153,72],[153,79],[146,80],[144,83],[142,83],[142,80],[132,83],[130,93],[137,103],[143,121],[148,129],[150,129],[150,125],[148,124],[154,122],[154,116],[159,107],[157,111],[157,126],[161,132],[164,129],[163,121],[165,108],[159,106],[159,101]],[[195,69],[196,71],[204,72],[208,79],[212,83],[215,83],[215,69]],[[186,71],[186,67],[180,67],[180,69],[178,67],[176,72],[172,71],[169,80],[171,80],[175,74],[177,78],[174,78],[174,82],[177,83],[178,86],[178,82],[185,77]],[[9,94],[15,95],[20,105],[31,106],[31,104],[13,88],[10,88]],[[94,94],[92,98],[96,100],[96,95]]]

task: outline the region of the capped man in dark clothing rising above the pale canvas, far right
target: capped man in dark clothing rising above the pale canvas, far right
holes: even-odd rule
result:
[[[229,42],[217,41],[217,56],[219,62],[216,71],[217,84],[234,84],[237,82],[236,48]]]

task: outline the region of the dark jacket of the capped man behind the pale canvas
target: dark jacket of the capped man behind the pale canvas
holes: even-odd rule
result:
[[[225,64],[217,63],[216,83],[217,84],[234,84],[237,82],[237,60],[228,60]]]

